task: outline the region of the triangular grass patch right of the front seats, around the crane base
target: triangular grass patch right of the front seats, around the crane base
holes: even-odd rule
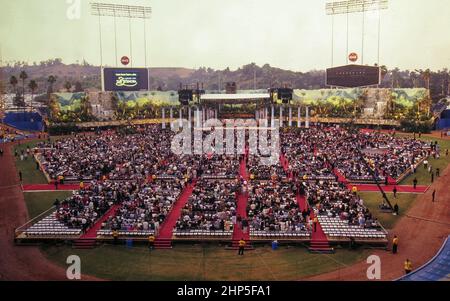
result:
[[[358,194],[364,200],[364,205],[369,208],[370,212],[387,230],[395,227],[395,224],[408,212],[418,196],[413,193],[397,193],[397,198],[394,198],[393,193],[386,193],[392,206],[397,204],[399,207],[399,215],[395,216],[380,211],[378,206],[382,203],[383,197],[379,192],[360,192]]]

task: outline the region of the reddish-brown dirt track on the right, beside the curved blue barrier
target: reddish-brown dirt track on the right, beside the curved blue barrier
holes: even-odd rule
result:
[[[420,195],[407,215],[391,231],[399,237],[399,253],[377,250],[373,255],[381,258],[381,280],[394,280],[404,274],[403,262],[410,259],[416,269],[430,260],[450,235],[450,166],[427,193]],[[436,201],[431,194],[436,190]],[[339,252],[339,251],[338,251]],[[367,280],[369,264],[357,263],[308,280]]]

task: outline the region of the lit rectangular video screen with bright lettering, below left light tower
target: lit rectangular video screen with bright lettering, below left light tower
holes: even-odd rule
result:
[[[148,70],[145,68],[104,68],[105,91],[148,91]]]

